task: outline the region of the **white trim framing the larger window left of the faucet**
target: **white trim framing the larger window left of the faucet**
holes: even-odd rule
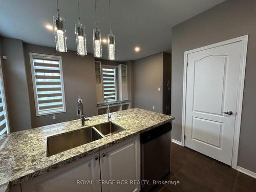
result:
[[[49,58],[58,58],[59,59],[59,68],[60,68],[60,79],[61,79],[61,90],[62,90],[62,99],[63,99],[63,110],[62,111],[56,111],[56,112],[49,112],[49,113],[42,113],[39,114],[38,111],[38,98],[36,94],[36,84],[35,84],[35,73],[34,73],[34,63],[33,63],[33,55],[35,56],[41,56],[41,57],[49,57]],[[56,55],[46,55],[46,54],[40,54],[40,53],[29,53],[30,57],[30,67],[31,67],[31,74],[32,74],[32,82],[33,82],[33,91],[34,91],[34,100],[35,100],[35,111],[36,116],[42,116],[42,115],[50,115],[50,114],[57,114],[57,113],[65,113],[66,111],[66,100],[65,100],[65,89],[64,89],[64,76],[63,76],[63,68],[62,68],[62,59],[61,56]]]

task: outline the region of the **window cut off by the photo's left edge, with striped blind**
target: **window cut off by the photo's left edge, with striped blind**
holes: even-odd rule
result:
[[[9,133],[9,124],[6,109],[3,73],[0,62],[0,135]]]

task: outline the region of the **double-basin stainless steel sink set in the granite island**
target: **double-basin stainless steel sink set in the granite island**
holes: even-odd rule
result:
[[[121,131],[124,131],[122,127],[109,121],[82,130],[48,137],[47,157],[104,137],[108,137]]]

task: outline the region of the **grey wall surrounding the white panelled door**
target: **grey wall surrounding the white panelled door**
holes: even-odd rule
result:
[[[173,27],[172,136],[181,141],[184,51],[249,34],[238,166],[256,173],[256,1],[227,0]]]

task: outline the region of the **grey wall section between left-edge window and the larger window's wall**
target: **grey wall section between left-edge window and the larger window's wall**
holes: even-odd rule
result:
[[[31,127],[28,83],[26,78],[23,42],[0,38],[4,86],[10,131],[22,131]]]

